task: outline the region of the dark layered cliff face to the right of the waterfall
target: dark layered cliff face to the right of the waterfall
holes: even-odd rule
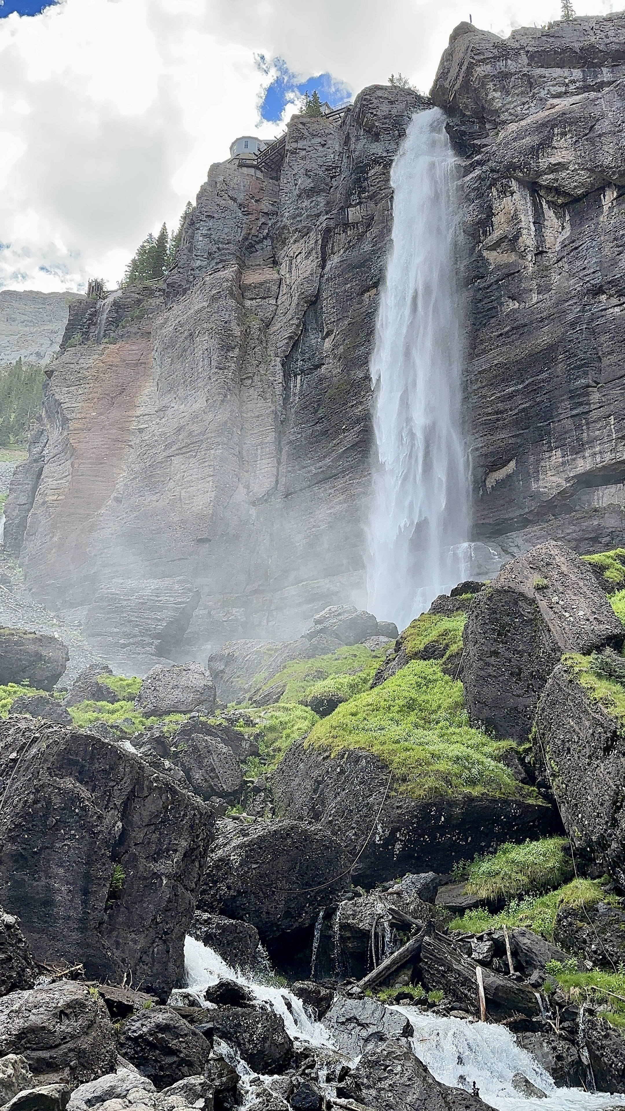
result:
[[[625,19],[452,34],[476,538],[623,543]]]

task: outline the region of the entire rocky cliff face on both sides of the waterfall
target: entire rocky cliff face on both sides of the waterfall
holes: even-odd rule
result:
[[[433,88],[463,159],[474,539],[502,557],[625,541],[624,90],[622,16],[460,24]],[[210,169],[162,288],[72,307],[6,543],[109,658],[363,604],[389,167],[428,104],[294,117],[272,167]]]

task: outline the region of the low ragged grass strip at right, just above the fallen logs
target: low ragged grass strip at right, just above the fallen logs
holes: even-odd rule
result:
[[[573,880],[543,895],[529,894],[523,899],[512,899],[506,909],[498,914],[490,914],[482,908],[466,911],[449,922],[449,929],[463,930],[466,933],[483,933],[485,930],[496,930],[504,924],[508,928],[524,925],[550,941],[554,937],[558,907],[577,907],[582,910],[585,907],[595,907],[598,902],[617,901],[602,890],[599,880]]]

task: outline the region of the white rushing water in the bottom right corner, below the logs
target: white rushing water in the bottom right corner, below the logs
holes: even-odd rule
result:
[[[440,1019],[416,1007],[398,1008],[413,1023],[415,1054],[444,1084],[473,1090],[497,1111],[599,1111],[625,1108],[625,1097],[585,1092],[581,1088],[556,1088],[538,1062],[520,1049],[505,1027],[489,1022]],[[545,1092],[527,1098],[513,1088],[513,1078],[523,1073]]]

